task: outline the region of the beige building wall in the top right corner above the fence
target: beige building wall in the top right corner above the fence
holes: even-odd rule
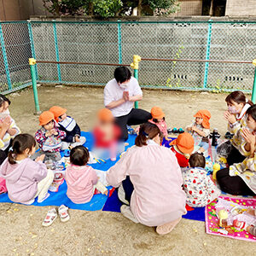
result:
[[[227,0],[226,16],[245,16],[256,15],[256,1],[255,0]]]

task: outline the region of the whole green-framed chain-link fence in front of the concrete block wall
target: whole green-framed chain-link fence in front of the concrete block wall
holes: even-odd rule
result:
[[[256,21],[0,22],[1,91],[31,84],[29,57],[129,64],[133,55],[140,55],[172,59],[141,61],[138,77],[142,87],[251,92],[255,38]],[[249,64],[239,63],[242,61]],[[113,79],[113,67],[38,63],[36,78],[38,83],[102,85]]]

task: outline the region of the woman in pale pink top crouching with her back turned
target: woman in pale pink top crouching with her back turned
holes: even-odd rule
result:
[[[125,192],[129,193],[126,177],[130,177],[130,189],[134,187],[130,207],[123,205],[121,212],[136,223],[157,226],[156,232],[164,235],[186,213],[186,195],[177,159],[169,148],[160,146],[161,140],[162,133],[156,125],[141,125],[136,146],[109,169],[107,181],[113,187],[125,181]]]

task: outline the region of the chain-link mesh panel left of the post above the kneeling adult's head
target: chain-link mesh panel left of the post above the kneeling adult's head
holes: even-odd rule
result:
[[[117,24],[56,24],[59,61],[119,63]],[[113,67],[61,65],[61,80],[104,83],[113,79]]]

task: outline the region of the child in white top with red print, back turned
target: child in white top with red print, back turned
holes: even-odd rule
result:
[[[201,153],[191,154],[189,168],[183,169],[183,189],[189,207],[205,207],[220,195],[220,190],[207,176],[206,159]]]

